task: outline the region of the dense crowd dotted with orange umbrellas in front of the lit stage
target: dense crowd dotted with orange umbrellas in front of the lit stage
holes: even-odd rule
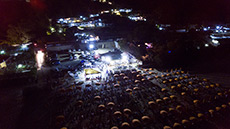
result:
[[[181,69],[109,72],[53,88],[57,129],[227,128],[230,90]]]

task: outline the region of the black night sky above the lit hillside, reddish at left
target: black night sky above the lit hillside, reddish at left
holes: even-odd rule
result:
[[[158,23],[213,24],[230,22],[229,0],[114,0],[116,7],[133,8]],[[90,0],[23,0],[0,1],[0,35],[8,24],[29,18],[33,11],[51,18],[77,16],[109,8]]]

